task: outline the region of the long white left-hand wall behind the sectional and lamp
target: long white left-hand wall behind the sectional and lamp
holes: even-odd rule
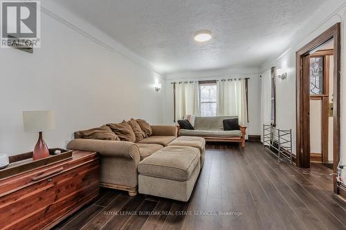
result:
[[[37,133],[24,133],[22,111],[55,111],[56,130],[44,133],[49,147],[64,148],[73,131],[131,117],[163,124],[165,88],[156,93],[154,84],[165,80],[149,64],[53,2],[42,6],[104,44],[42,14],[42,48],[0,49],[0,153],[33,150]]]

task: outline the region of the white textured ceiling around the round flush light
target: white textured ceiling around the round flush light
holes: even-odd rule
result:
[[[324,0],[57,0],[160,73],[261,66]],[[212,39],[194,41],[197,30]]]

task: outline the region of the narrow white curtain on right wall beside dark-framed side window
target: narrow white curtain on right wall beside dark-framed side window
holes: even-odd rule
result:
[[[261,129],[263,124],[271,124],[271,70],[262,73],[261,88]],[[263,131],[261,134],[263,142]]]

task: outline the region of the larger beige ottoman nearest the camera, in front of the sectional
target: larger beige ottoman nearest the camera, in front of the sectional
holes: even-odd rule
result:
[[[138,164],[138,192],[188,201],[201,168],[198,148],[167,146]]]

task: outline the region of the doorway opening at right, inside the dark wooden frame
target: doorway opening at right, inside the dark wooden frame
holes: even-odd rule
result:
[[[334,39],[310,57],[310,162],[333,169]]]

